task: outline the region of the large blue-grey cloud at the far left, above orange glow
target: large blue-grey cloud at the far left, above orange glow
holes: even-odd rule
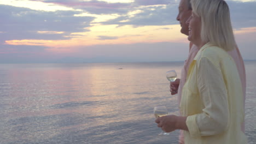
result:
[[[9,5],[0,5],[0,9],[1,42],[11,39],[67,39],[65,35],[70,33],[88,31],[84,28],[94,20],[91,16],[74,16],[80,13],[78,11],[37,11]]]

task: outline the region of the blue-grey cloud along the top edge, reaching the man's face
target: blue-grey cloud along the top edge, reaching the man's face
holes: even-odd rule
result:
[[[37,0],[34,0],[37,1]],[[117,14],[119,16],[104,23],[105,25],[171,25],[177,24],[178,3],[168,0],[136,0],[133,3],[108,3],[106,1],[60,1],[46,0],[46,3],[54,3],[74,9],[82,9],[85,13],[97,15]],[[142,13],[130,15],[133,11]],[[174,19],[171,19],[174,17]]]

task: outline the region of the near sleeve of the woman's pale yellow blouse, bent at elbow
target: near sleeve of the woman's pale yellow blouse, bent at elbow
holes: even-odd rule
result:
[[[228,127],[228,92],[223,79],[222,66],[218,64],[202,57],[197,65],[197,87],[204,108],[202,113],[190,116],[187,121],[188,125],[191,125],[188,127],[193,137],[217,135]]]

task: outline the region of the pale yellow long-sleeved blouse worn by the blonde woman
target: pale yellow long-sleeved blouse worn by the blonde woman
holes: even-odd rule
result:
[[[236,64],[223,49],[207,43],[190,64],[180,104],[189,131],[185,144],[247,143],[241,124],[243,91]]]

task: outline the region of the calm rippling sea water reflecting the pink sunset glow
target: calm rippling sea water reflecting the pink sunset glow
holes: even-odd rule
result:
[[[246,135],[256,143],[256,62],[247,73]],[[165,72],[183,62],[0,64],[0,143],[178,143],[153,107],[177,112]],[[123,68],[123,69],[119,69]]]

